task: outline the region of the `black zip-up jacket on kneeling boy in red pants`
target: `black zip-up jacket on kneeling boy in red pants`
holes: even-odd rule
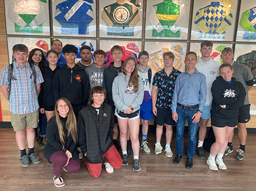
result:
[[[79,112],[78,142],[83,153],[87,153],[86,161],[88,163],[104,163],[102,155],[112,146],[113,119],[112,108],[105,103],[100,106],[99,115],[91,104]]]

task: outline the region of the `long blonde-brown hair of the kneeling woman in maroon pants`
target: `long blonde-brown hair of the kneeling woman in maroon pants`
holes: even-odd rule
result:
[[[62,147],[64,148],[66,146],[67,136],[64,133],[64,129],[63,129],[64,124],[61,122],[59,111],[57,110],[59,100],[61,100],[61,99],[64,100],[64,102],[67,104],[67,106],[69,106],[69,112],[67,113],[67,121],[66,121],[66,124],[65,124],[65,127],[68,130],[67,136],[69,136],[71,134],[72,139],[75,143],[77,143],[78,137],[77,137],[76,116],[73,112],[72,105],[71,105],[71,103],[69,102],[68,99],[59,98],[55,103],[54,112],[55,112],[55,120],[56,120],[58,130],[59,130],[60,142],[61,142]]]

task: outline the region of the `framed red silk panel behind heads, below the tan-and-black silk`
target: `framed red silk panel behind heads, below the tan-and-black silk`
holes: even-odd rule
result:
[[[107,58],[104,62],[107,66],[109,66],[109,64],[113,61],[113,58],[110,52],[113,45],[119,45],[122,47],[123,61],[128,57],[134,57],[137,60],[139,56],[139,52],[141,51],[142,41],[100,40],[100,49],[104,50],[107,53]]]

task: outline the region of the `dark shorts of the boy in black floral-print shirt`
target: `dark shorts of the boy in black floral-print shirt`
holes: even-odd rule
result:
[[[158,126],[163,126],[164,123],[168,124],[169,126],[174,126],[175,122],[173,121],[171,109],[161,109],[158,107],[156,107],[156,109],[157,116],[155,116],[155,119]]]

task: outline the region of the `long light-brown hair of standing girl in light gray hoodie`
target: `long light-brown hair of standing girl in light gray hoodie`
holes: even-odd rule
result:
[[[137,93],[138,90],[139,90],[139,75],[138,75],[136,59],[134,57],[126,58],[126,60],[123,63],[123,66],[122,66],[122,73],[127,76],[126,64],[128,63],[129,60],[133,60],[134,61],[135,68],[134,68],[132,74],[130,74],[130,79],[128,81],[128,84],[132,84],[133,85],[133,92]],[[124,80],[126,80],[126,76],[124,77]]]

